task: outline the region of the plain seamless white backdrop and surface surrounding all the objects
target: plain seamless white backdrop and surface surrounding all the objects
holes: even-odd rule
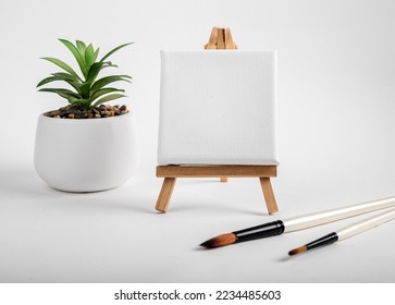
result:
[[[394,282],[395,222],[293,259],[288,249],[347,221],[198,247],[222,232],[395,195],[394,15],[390,0],[2,0],[0,281]],[[201,49],[212,26],[231,27],[240,49],[279,50],[276,216],[248,179],[180,180],[169,212],[153,208],[159,51]],[[57,38],[91,41],[102,53],[136,42],[112,60],[134,77],[124,102],[144,157],[116,190],[61,193],[34,170],[37,117],[63,106],[36,91],[54,72],[39,58],[72,60]]]

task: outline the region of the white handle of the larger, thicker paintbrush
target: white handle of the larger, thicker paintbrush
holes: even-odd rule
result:
[[[293,217],[283,220],[284,232],[304,230],[388,207],[395,207],[395,197]]]

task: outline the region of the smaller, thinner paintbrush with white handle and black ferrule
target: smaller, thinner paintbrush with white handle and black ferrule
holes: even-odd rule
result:
[[[336,232],[332,232],[325,236],[322,236],[321,239],[318,239],[311,243],[308,243],[304,246],[294,248],[292,251],[288,252],[288,255],[296,255],[299,253],[304,253],[306,251],[316,248],[316,247],[320,247],[320,246],[324,246],[324,245],[330,245],[333,244],[335,242],[341,242],[344,241],[346,239],[353,237],[357,234],[363,233],[370,229],[373,229],[375,227],[379,227],[387,221],[391,221],[395,219],[395,209],[390,209],[386,212],[380,213],[378,216],[374,217],[370,217],[368,219],[365,219],[362,221],[353,223],[350,225],[347,225]]]

